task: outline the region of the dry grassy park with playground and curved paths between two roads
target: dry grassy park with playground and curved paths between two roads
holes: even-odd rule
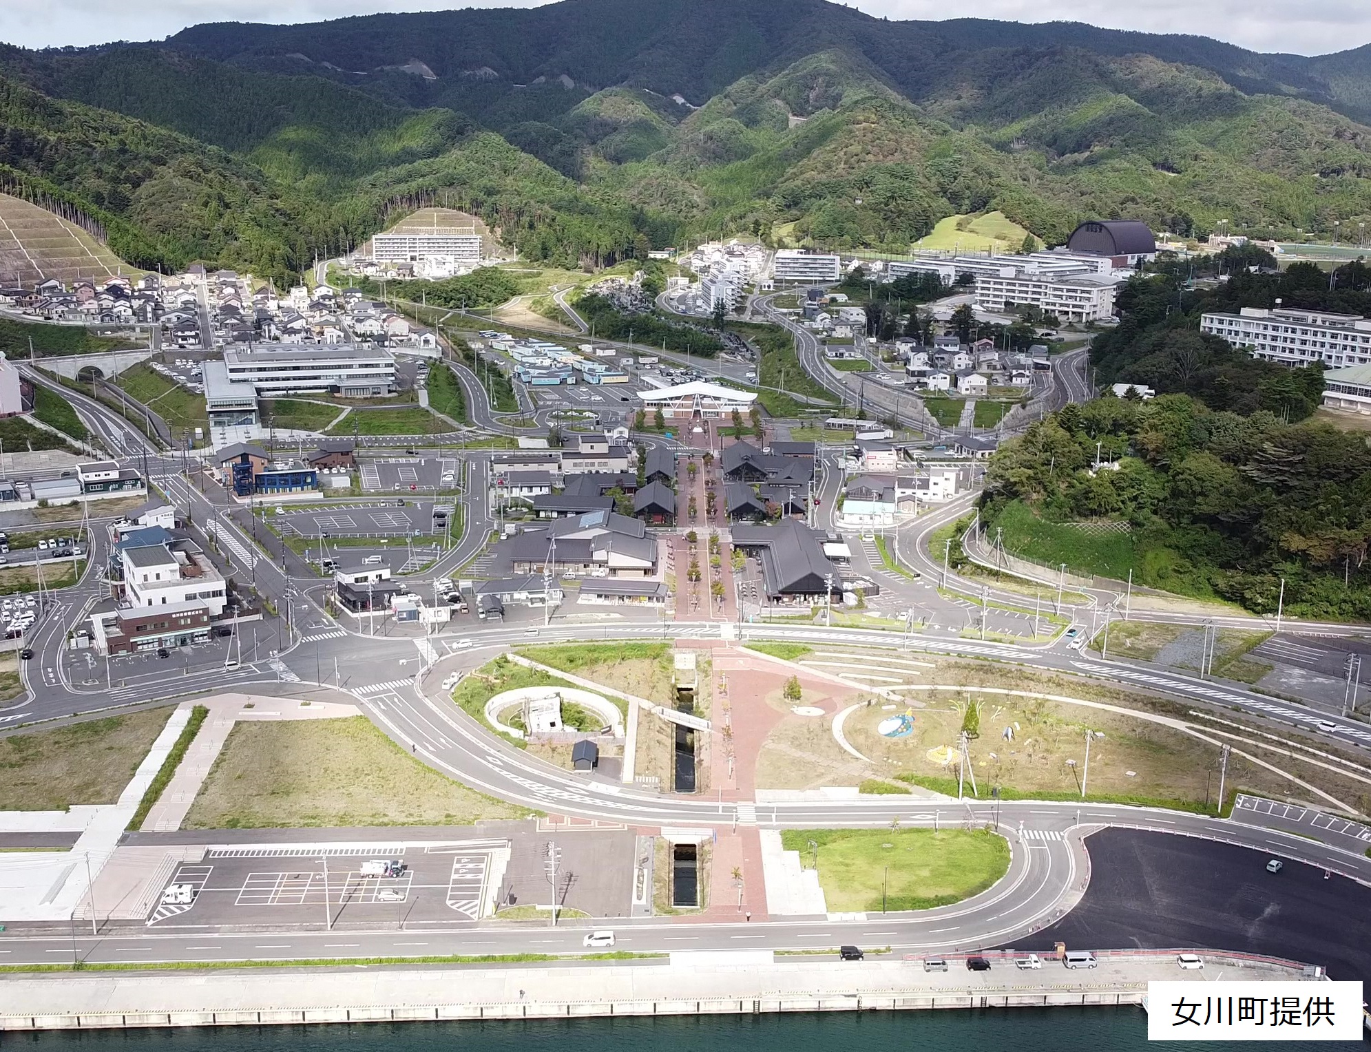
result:
[[[880,651],[853,651],[853,657],[869,667],[876,667],[883,660]],[[884,657],[899,660],[901,656],[887,651]],[[1078,797],[1089,728],[1105,735],[1091,739],[1087,783],[1091,797],[1180,801],[1190,805],[1202,804],[1206,796],[1211,801],[1217,800],[1219,749],[1215,745],[1126,713],[1041,698],[986,694],[976,687],[1041,690],[1138,709],[1139,713],[1190,719],[1185,705],[1021,668],[957,661],[934,664],[932,669],[924,669],[912,682],[945,684],[951,690],[909,690],[906,701],[894,705],[873,698],[869,708],[858,709],[847,719],[847,739],[872,760],[871,764],[856,760],[838,746],[831,719],[788,719],[776,726],[765,741],[758,760],[758,786],[850,786],[861,785],[865,779],[884,779],[893,789],[914,783],[939,791],[949,787],[956,791],[954,750],[969,701],[979,712],[980,726],[971,741],[971,758],[982,796],[987,796],[988,789],[998,785],[1006,796],[1026,793]],[[893,708],[886,708],[887,705]],[[877,732],[882,720],[905,713],[913,719],[912,734],[887,738]],[[1241,724],[1237,713],[1224,713],[1223,719]],[[1217,727],[1201,719],[1190,721],[1201,728]],[[1005,737],[1006,728],[1012,731],[1010,738]],[[1224,730],[1257,738],[1241,726]],[[1361,812],[1371,808],[1371,786],[1364,782],[1248,742],[1234,745],[1267,763],[1290,769],[1349,806]],[[938,749],[951,749],[953,754],[949,757],[946,752],[934,752]],[[1068,760],[1075,760],[1075,765],[1068,764]],[[906,775],[908,779],[902,782],[899,775]],[[1228,761],[1227,789],[1231,791],[1238,787],[1278,800],[1287,794],[1296,800],[1316,798],[1282,775],[1234,754]]]

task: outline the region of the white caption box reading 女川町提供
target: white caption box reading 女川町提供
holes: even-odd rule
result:
[[[1149,1041],[1360,1041],[1361,983],[1149,982]]]

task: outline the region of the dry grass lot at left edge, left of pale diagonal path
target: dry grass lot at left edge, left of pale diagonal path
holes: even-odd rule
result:
[[[147,709],[0,738],[0,809],[117,802],[170,716]]]

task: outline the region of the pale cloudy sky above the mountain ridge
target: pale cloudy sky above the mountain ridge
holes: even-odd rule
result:
[[[321,22],[381,11],[533,7],[533,0],[0,0],[0,41],[29,48],[160,40],[200,22]],[[946,0],[849,0],[898,19],[949,16]],[[1253,51],[1323,55],[1371,43],[1367,0],[961,0],[956,15],[1010,22],[1089,22],[1196,33]]]

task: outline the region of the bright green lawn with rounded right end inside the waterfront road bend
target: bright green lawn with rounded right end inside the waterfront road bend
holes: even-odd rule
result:
[[[817,854],[818,883],[834,912],[880,911],[883,889],[886,909],[960,902],[1009,870],[1009,844],[987,830],[784,830],[780,839],[799,852],[806,870]]]

